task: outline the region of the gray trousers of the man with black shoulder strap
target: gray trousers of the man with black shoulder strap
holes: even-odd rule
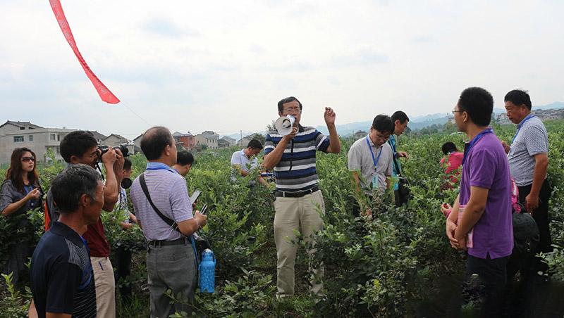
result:
[[[151,299],[151,317],[165,318],[175,312],[192,312],[197,284],[194,249],[190,241],[183,245],[149,246],[147,251],[147,275]],[[165,295],[181,294],[182,303],[171,304]]]

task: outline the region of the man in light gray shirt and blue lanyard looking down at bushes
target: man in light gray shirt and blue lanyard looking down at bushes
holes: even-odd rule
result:
[[[389,116],[377,115],[370,127],[370,133],[350,146],[348,170],[353,176],[353,186],[357,192],[362,189],[372,196],[374,191],[383,193],[386,191],[386,186],[391,184],[387,177],[392,174],[393,152],[386,141],[393,133],[393,128]],[[362,205],[364,204],[354,207],[355,216],[359,211],[366,211],[369,214],[369,207]]]

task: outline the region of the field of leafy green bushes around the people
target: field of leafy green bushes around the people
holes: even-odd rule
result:
[[[552,277],[541,292],[537,317],[562,317],[564,305],[557,295],[564,292],[564,122],[546,122],[550,160],[548,178],[553,186],[550,216],[555,251],[546,255]],[[498,137],[508,143],[514,126],[496,126]],[[400,137],[399,148],[409,153],[403,170],[410,181],[412,198],[395,208],[391,193],[372,202],[374,220],[355,220],[353,203],[357,198],[350,186],[346,167],[353,139],[342,139],[338,155],[318,153],[319,187],[326,215],[324,230],[317,234],[316,252],[309,257],[305,243],[296,260],[296,295],[276,301],[276,247],[274,246],[274,196],[263,186],[250,186],[249,179],[231,181],[229,159],[238,149],[195,153],[196,163],[187,176],[188,189],[202,190],[198,207],[209,205],[207,226],[201,233],[212,243],[217,259],[216,292],[197,293],[195,311],[206,317],[446,317],[462,301],[467,317],[474,313],[468,297],[460,299],[465,255],[450,248],[444,234],[443,202],[451,203],[455,189],[444,190],[444,174],[439,165],[441,145],[453,141],[463,148],[465,135],[446,125],[442,132],[418,131]],[[260,155],[259,155],[260,156]],[[145,170],[142,155],[131,157],[133,177]],[[39,167],[42,187],[64,164]],[[257,172],[255,172],[257,173]],[[5,175],[5,170],[0,170]],[[133,210],[133,208],[132,208]],[[149,295],[145,288],[144,238],[140,229],[123,231],[118,227],[121,213],[103,212],[106,236],[112,249],[125,245],[135,250],[132,274],[134,299],[123,307],[118,295],[119,317],[148,317]],[[15,229],[14,220],[0,217],[0,264],[18,238],[42,234],[41,210],[31,212],[34,228]],[[324,265],[324,297],[309,295],[308,265]],[[3,279],[4,280],[4,279]],[[30,295],[25,286],[0,293],[0,317],[23,317]],[[183,301],[170,295],[171,301]],[[178,313],[177,317],[185,317]]]

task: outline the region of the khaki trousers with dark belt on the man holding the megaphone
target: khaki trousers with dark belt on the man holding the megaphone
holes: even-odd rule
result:
[[[311,240],[314,231],[323,228],[320,213],[325,214],[325,203],[321,191],[307,194],[301,198],[277,197],[274,201],[274,241],[276,243],[277,276],[276,287],[278,297],[294,294],[294,265],[295,253],[298,246],[294,231],[300,231],[305,241]],[[308,250],[307,253],[312,253]],[[311,281],[312,292],[319,293],[323,284],[321,276],[323,269],[312,269],[314,277]]]

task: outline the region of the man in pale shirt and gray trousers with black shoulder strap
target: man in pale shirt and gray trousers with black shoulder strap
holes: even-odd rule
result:
[[[171,304],[166,291],[192,302],[197,283],[195,231],[207,223],[188,197],[186,180],[171,168],[176,164],[176,144],[165,127],[152,127],[141,139],[141,149],[149,161],[147,170],[133,181],[130,196],[137,222],[149,241],[147,278],[151,317],[168,317],[174,312],[190,313],[191,306]]]

